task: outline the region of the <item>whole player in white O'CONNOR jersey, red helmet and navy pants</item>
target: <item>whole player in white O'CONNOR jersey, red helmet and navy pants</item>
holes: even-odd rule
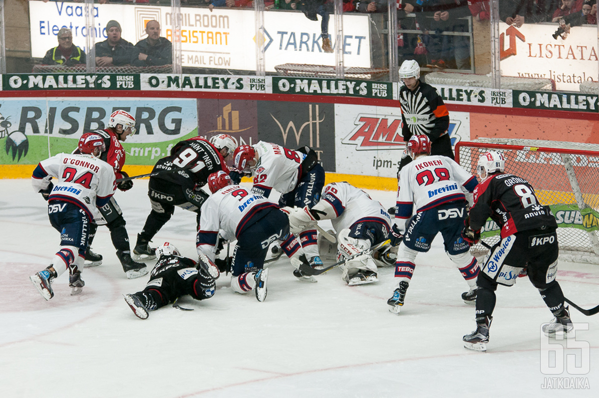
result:
[[[30,277],[46,300],[52,299],[53,279],[67,269],[71,294],[85,285],[81,279],[89,226],[98,208],[114,194],[114,171],[98,159],[105,150],[104,139],[96,133],[85,133],[78,143],[81,154],[59,153],[42,160],[31,176],[32,185],[48,201],[50,224],[60,232],[60,250],[50,266]],[[57,178],[56,185],[52,178]]]

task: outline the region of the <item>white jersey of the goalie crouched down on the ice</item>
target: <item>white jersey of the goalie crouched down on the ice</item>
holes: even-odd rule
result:
[[[331,214],[331,207],[334,214]],[[349,183],[331,183],[325,186],[322,199],[312,208],[313,212],[325,212],[322,218],[331,218],[336,232],[350,228],[358,221],[375,221],[391,229],[391,217],[383,205],[359,188]]]

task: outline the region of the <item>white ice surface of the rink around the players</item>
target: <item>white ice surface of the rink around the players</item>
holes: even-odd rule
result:
[[[147,180],[117,191],[131,241],[150,211]],[[369,191],[391,206],[394,193]],[[29,180],[0,180],[0,397],[596,397],[599,315],[577,338],[591,345],[586,375],[541,373],[540,324],[552,316],[527,279],[499,287],[487,353],[462,347],[474,329],[474,306],[443,253],[440,236],[420,254],[400,315],[386,300],[392,268],[377,284],[347,286],[334,270],[316,284],[298,281],[289,261],[271,265],[268,297],[232,292],[217,281],[209,300],[184,297],[139,320],[123,293],[147,277],[126,279],[106,227],[93,250],[104,256],[83,269],[80,296],[68,277],[46,302],[29,281],[59,244],[46,202]],[[154,244],[170,241],[195,257],[195,214],[176,209]],[[599,268],[560,263],[565,295],[584,308],[599,303]],[[568,350],[570,354],[580,350]],[[543,390],[545,377],[587,377],[589,390]]]

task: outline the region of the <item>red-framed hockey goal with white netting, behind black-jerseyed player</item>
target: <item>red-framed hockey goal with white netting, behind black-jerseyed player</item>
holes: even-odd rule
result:
[[[571,262],[599,264],[599,145],[527,139],[479,139],[458,142],[455,157],[476,175],[481,154],[500,151],[505,171],[525,178],[542,205],[549,205],[558,222],[559,256]],[[491,219],[481,237],[488,244],[499,240]],[[480,245],[473,251],[485,252]]]

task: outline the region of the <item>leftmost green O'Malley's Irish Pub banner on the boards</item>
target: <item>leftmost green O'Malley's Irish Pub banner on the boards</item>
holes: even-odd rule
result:
[[[3,75],[5,90],[118,90],[140,89],[139,75],[117,74],[17,74]]]

